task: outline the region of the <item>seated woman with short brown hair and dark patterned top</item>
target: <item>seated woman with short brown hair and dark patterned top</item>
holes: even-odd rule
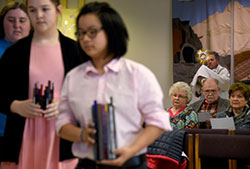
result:
[[[231,85],[228,93],[230,106],[225,112],[217,114],[217,118],[233,117],[236,129],[250,129],[249,87],[237,82]]]

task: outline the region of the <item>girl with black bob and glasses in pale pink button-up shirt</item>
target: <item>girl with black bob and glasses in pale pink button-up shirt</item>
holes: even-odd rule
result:
[[[95,141],[91,135],[96,131],[91,106],[94,100],[107,104],[112,97],[118,158],[100,163],[122,166],[131,157],[145,153],[164,130],[172,129],[162,104],[161,88],[149,69],[121,58],[127,51],[127,29],[107,3],[93,2],[81,9],[76,36],[87,62],[73,69],[64,81],[57,132],[74,142],[75,156],[93,159],[90,145]]]

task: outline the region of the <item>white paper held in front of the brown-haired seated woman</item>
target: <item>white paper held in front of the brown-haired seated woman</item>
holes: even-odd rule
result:
[[[212,129],[229,129],[235,130],[233,117],[211,118]]]

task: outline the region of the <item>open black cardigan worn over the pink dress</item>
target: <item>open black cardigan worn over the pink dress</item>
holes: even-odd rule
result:
[[[5,134],[0,137],[0,161],[18,163],[25,118],[10,112],[14,100],[28,99],[29,62],[33,32],[7,48],[0,60],[0,112],[7,115]],[[59,32],[65,75],[80,64],[76,42]],[[60,140],[60,160],[73,158],[71,142]]]

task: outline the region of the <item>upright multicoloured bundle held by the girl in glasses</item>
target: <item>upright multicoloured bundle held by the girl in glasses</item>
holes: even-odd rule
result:
[[[98,104],[94,101],[92,106],[92,118],[95,123],[94,158],[95,160],[112,160],[117,156],[114,150],[117,148],[115,108],[110,98],[109,104]]]

